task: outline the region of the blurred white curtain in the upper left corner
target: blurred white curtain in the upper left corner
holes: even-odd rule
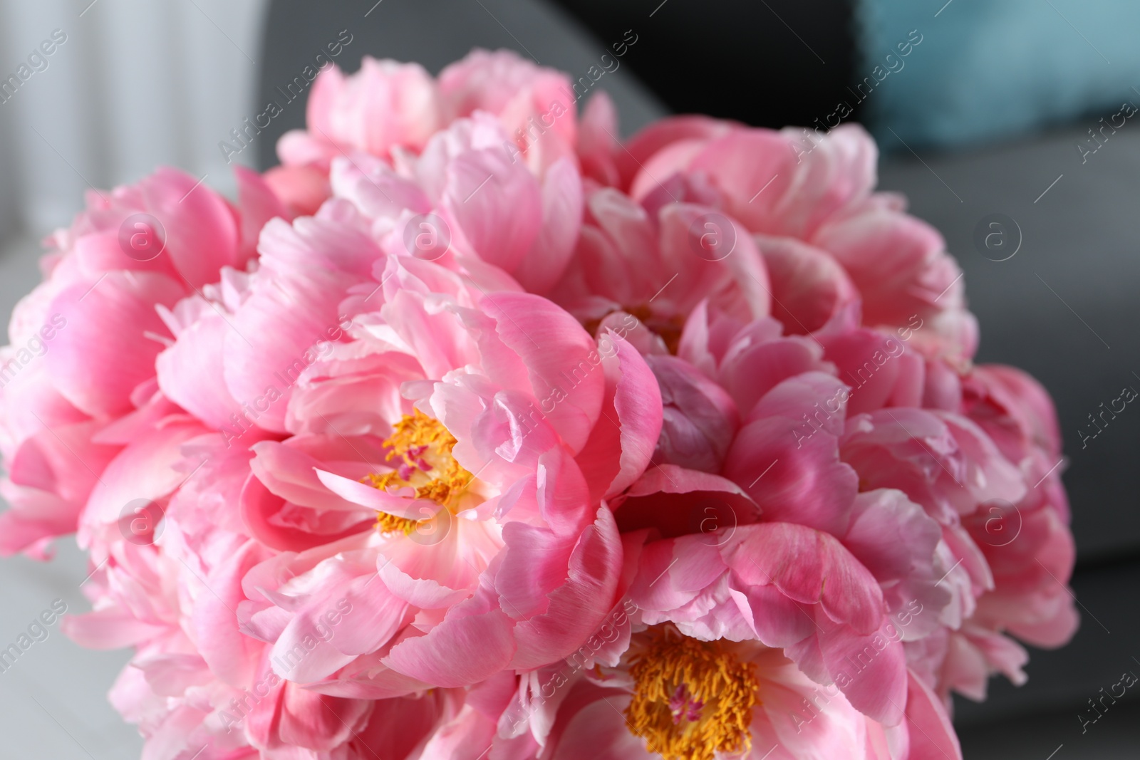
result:
[[[89,186],[158,164],[230,194],[218,142],[253,115],[266,5],[0,0],[0,239],[67,224]]]

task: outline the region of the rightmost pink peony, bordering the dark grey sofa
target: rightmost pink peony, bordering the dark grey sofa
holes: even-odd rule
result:
[[[955,411],[881,409],[848,419],[842,456],[861,480],[902,489],[942,524],[953,565],[944,585],[954,599],[946,630],[912,648],[931,688],[982,700],[991,673],[1026,679],[1028,655],[1008,634],[1036,646],[1072,638],[1077,618],[1065,583],[1075,553],[1048,397],[1001,367],[979,367],[956,387],[961,401],[953,392],[943,399]]]

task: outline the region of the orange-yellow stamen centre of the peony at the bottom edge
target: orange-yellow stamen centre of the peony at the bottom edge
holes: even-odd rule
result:
[[[749,725],[759,686],[752,663],[723,641],[650,628],[630,657],[634,696],[626,720],[666,760],[712,760],[751,749]]]

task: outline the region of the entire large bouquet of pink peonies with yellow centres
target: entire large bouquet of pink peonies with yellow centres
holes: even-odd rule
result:
[[[617,134],[365,59],[236,199],[48,238],[0,550],[78,534],[146,758],[960,758],[951,694],[1073,635],[1052,403],[868,134]]]

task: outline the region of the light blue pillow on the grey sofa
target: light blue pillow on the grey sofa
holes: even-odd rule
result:
[[[1100,129],[1099,117],[1119,124],[1122,105],[1140,104],[1137,0],[857,0],[856,19],[853,98],[888,150],[905,150],[899,139],[1009,139],[1082,116]]]

